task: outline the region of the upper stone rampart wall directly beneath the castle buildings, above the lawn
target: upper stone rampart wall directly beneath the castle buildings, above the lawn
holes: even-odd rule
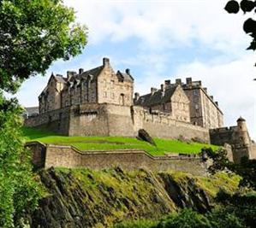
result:
[[[25,120],[26,126],[44,126],[68,136],[135,137],[145,129],[152,137],[197,138],[210,142],[209,132],[200,126],[174,120],[170,114],[150,114],[141,107],[90,103],[61,108]]]

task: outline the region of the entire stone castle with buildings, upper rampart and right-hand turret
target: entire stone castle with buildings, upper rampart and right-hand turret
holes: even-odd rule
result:
[[[25,120],[26,126],[45,126],[68,136],[135,137],[145,129],[152,137],[229,143],[233,151],[243,148],[252,157],[254,150],[244,149],[252,148],[245,120],[237,123],[223,128],[223,113],[201,81],[165,80],[140,96],[134,94],[130,70],[115,72],[108,58],[88,71],[68,71],[67,77],[52,73],[39,95],[39,115]]]

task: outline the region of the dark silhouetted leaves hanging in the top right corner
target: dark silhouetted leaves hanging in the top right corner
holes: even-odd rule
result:
[[[229,14],[237,14],[240,9],[244,14],[252,11],[256,13],[256,1],[242,0],[240,3],[238,3],[235,0],[231,0],[226,4],[224,9]],[[256,50],[256,20],[248,18],[243,24],[243,30],[253,38],[253,41],[249,47],[247,47],[247,50]]]

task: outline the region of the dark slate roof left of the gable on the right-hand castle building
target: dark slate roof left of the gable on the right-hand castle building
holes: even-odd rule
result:
[[[156,91],[154,94],[149,93],[144,96],[140,96],[139,100],[134,102],[134,104],[140,105],[140,106],[152,107],[158,104],[164,104],[166,102],[170,102],[170,98],[176,91],[176,88],[177,86],[172,86],[168,88],[164,92],[164,96],[161,90]]]

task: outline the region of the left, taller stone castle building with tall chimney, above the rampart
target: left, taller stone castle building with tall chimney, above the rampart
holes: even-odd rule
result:
[[[122,106],[133,105],[134,79],[127,69],[116,73],[110,60],[103,65],[84,72],[63,75],[52,73],[45,90],[39,96],[39,114],[52,110],[86,103],[111,103]]]

